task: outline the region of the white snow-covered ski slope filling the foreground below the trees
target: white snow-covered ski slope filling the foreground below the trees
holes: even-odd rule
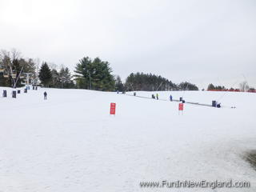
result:
[[[4,88],[0,88],[2,90]],[[43,100],[47,91],[48,100]],[[210,104],[223,92],[158,92]],[[127,93],[133,94],[133,93]],[[137,92],[150,97],[151,92]],[[0,191],[256,191],[243,154],[256,148],[256,94],[221,109],[90,90],[29,90],[0,98]],[[110,102],[116,102],[110,116]],[[249,181],[250,188],[141,188],[166,180]]]

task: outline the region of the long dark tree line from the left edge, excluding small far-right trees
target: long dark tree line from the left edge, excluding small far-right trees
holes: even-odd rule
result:
[[[40,59],[24,58],[17,50],[0,52],[0,86],[22,86],[26,84],[26,75],[34,85],[102,91],[132,90],[198,90],[190,82],[175,84],[156,74],[131,73],[122,82],[119,75],[114,76],[110,63],[100,58],[81,58],[75,66],[74,75],[70,70]]]

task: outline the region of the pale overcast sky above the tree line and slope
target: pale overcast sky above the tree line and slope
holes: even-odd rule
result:
[[[0,49],[70,70],[100,57],[122,79],[256,87],[255,0],[0,0],[0,34]]]

